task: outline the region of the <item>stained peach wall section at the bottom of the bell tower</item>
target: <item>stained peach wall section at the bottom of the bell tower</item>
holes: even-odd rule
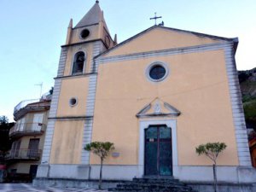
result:
[[[55,122],[50,164],[79,164],[82,151],[84,120]]]

